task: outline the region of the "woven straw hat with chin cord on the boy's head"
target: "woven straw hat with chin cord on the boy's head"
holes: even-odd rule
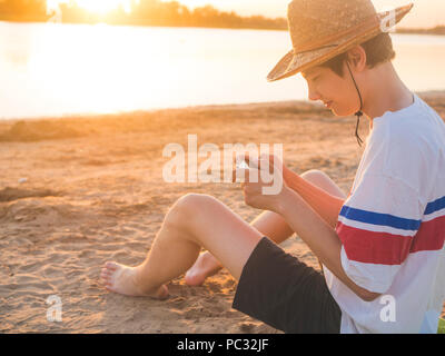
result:
[[[412,8],[409,3],[377,13],[370,0],[294,0],[287,10],[293,49],[267,80],[294,76],[387,32]]]

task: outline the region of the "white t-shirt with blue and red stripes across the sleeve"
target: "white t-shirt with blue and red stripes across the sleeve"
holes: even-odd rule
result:
[[[340,333],[436,333],[445,299],[445,123],[419,97],[375,118],[336,225],[342,266],[365,301],[326,266]]]

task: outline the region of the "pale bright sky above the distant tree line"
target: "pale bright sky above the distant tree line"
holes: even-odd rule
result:
[[[168,1],[168,0],[165,0]],[[287,17],[290,0],[177,0],[190,9],[211,4],[221,11],[235,11],[241,16],[263,14],[266,17]],[[329,1],[329,0],[326,0]],[[431,28],[445,24],[445,0],[373,0],[377,10],[414,2],[414,8],[399,27]]]

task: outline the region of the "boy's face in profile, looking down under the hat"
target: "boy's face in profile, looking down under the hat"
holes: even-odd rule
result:
[[[359,108],[357,90],[347,75],[347,66],[344,63],[344,77],[327,67],[313,67],[301,72],[306,79],[309,100],[322,100],[325,107],[336,116],[349,116]]]

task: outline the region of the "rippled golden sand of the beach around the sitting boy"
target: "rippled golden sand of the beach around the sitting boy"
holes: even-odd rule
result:
[[[443,92],[423,97],[445,118]],[[100,269],[110,259],[141,263],[187,192],[214,195],[247,221],[260,212],[244,204],[239,185],[165,182],[167,144],[187,147],[188,134],[220,148],[281,142],[290,169],[320,169],[347,194],[364,150],[355,123],[298,101],[0,121],[0,332],[280,333],[231,309],[227,270],[199,287],[180,276],[158,301],[109,293]],[[318,268],[297,236],[281,246]],[[50,296],[60,298],[61,322],[47,318]]]

